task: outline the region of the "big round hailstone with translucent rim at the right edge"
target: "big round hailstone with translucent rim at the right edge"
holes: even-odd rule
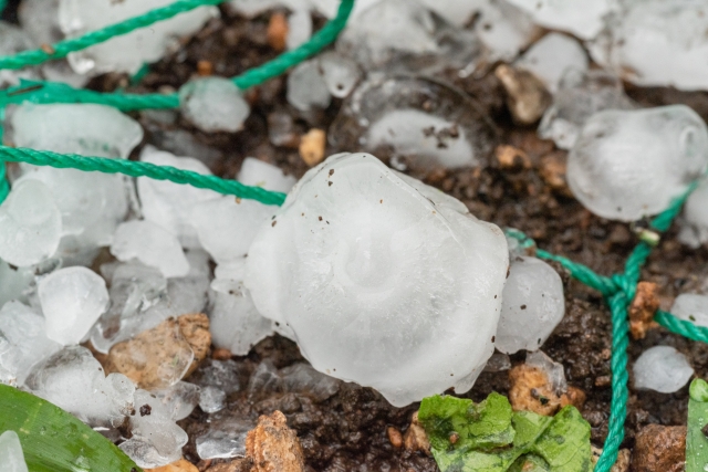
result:
[[[573,195],[621,221],[656,214],[708,166],[708,128],[685,105],[606,111],[583,127],[568,159]]]

